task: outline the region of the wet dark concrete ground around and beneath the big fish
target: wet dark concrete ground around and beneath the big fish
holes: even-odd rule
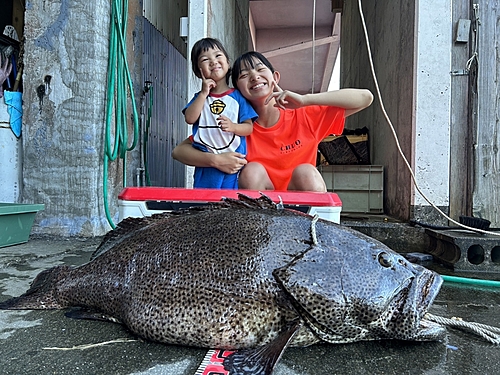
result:
[[[26,244],[0,248],[0,301],[25,292],[41,270],[86,262],[99,241],[32,238]],[[453,274],[435,264],[428,266]],[[500,279],[500,275],[482,276]],[[445,284],[431,313],[500,327],[500,289]],[[130,341],[73,348],[117,339]],[[1,374],[194,375],[205,353],[204,349],[143,342],[120,325],[69,319],[63,311],[0,311]],[[500,346],[449,329],[447,338],[440,342],[378,341],[291,348],[275,374],[483,375],[500,374],[499,363]]]

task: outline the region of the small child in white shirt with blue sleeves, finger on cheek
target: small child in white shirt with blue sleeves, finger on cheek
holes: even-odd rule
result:
[[[257,113],[241,93],[229,87],[229,58],[222,43],[203,38],[191,50],[194,74],[201,79],[201,91],[183,109],[193,125],[193,147],[215,154],[239,152],[246,155],[245,136],[253,130]],[[237,189],[238,174],[216,168],[196,167],[195,188]]]

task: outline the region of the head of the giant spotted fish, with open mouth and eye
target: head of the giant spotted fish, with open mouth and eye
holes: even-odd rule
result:
[[[445,328],[424,318],[441,276],[382,244],[362,250],[316,245],[273,275],[326,342],[442,338]]]

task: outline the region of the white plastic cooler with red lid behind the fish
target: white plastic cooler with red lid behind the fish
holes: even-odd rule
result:
[[[238,193],[258,198],[256,190],[182,189],[163,187],[129,187],[118,196],[119,220],[126,217],[151,216],[155,213],[218,202],[222,198],[237,198]],[[340,223],[342,202],[335,193],[302,191],[265,191],[274,202],[280,199],[286,208],[318,215],[322,219]]]

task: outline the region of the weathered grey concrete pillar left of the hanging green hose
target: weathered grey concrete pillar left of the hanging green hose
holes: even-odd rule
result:
[[[102,234],[109,2],[32,1],[25,16],[22,196],[45,204],[33,231]]]

